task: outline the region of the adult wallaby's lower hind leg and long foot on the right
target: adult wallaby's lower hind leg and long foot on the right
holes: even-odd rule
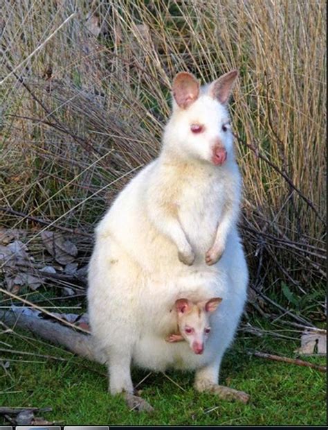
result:
[[[239,400],[240,402],[247,403],[249,395],[244,393],[244,391],[234,390],[233,388],[218,384],[220,364],[221,357],[219,357],[215,363],[211,363],[197,370],[194,388],[200,392],[215,394],[221,399]]]

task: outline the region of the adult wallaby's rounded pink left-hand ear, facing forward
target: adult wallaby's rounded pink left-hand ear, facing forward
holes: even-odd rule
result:
[[[172,92],[176,103],[186,109],[199,96],[199,82],[192,74],[181,71],[173,80]]]

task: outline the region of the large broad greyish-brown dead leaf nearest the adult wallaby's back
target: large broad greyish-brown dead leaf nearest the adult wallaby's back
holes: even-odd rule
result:
[[[41,233],[42,241],[46,250],[55,260],[64,266],[73,263],[78,255],[78,248],[71,241],[66,241],[60,233],[44,231]]]

